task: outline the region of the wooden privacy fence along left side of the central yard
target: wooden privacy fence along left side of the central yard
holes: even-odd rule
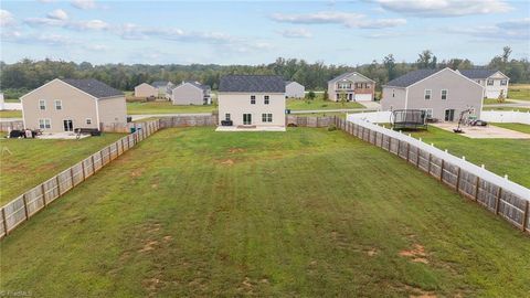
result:
[[[24,192],[1,209],[0,238],[28,221],[50,203],[99,171],[104,166],[149,137],[158,129],[158,120],[136,124],[137,130],[108,145],[55,177]]]

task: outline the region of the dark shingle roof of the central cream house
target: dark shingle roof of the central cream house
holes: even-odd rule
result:
[[[285,82],[279,75],[226,75],[221,77],[219,91],[285,93]]]

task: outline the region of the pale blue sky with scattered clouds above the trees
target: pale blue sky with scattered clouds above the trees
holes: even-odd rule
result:
[[[0,2],[0,60],[93,64],[263,64],[276,57],[358,65],[487,64],[530,57],[529,0]]]

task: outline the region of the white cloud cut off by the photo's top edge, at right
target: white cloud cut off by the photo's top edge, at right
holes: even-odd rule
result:
[[[508,12],[505,0],[371,0],[383,9],[415,17],[462,17]]]

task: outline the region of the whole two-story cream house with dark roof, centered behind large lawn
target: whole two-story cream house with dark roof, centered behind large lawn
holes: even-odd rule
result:
[[[233,126],[285,127],[285,82],[282,76],[223,76],[218,102],[220,125],[232,121]]]

